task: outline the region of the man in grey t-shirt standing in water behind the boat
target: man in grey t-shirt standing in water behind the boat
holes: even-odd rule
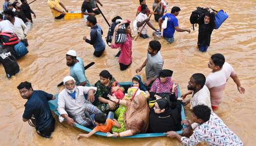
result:
[[[146,66],[145,86],[153,83],[163,69],[163,57],[160,53],[161,43],[157,40],[150,41],[147,48],[147,58],[144,63],[136,69],[136,73],[140,72]]]

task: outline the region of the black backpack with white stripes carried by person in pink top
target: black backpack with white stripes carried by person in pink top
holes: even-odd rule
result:
[[[120,22],[113,22],[110,25],[108,36],[106,36],[106,43],[108,45],[112,41],[113,33],[114,33],[115,27],[116,27],[116,25],[118,25],[118,23],[120,23]],[[120,29],[116,32],[116,36],[115,36],[116,43],[124,43],[125,42],[125,40],[126,40],[125,30],[126,30],[125,25],[124,24],[121,25]]]

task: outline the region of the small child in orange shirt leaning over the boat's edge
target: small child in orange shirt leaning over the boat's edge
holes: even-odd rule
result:
[[[77,139],[80,139],[82,137],[90,137],[94,133],[100,131],[100,132],[110,132],[112,127],[115,126],[117,128],[121,128],[120,124],[117,122],[116,119],[110,119],[106,118],[106,115],[103,113],[97,113],[94,116],[94,123],[97,125],[92,131],[90,131],[88,134],[79,134],[77,136]]]

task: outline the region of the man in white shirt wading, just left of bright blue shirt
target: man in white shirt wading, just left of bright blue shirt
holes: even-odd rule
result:
[[[157,29],[151,24],[150,18],[147,18],[147,12],[148,8],[145,4],[141,5],[141,12],[136,17],[137,20],[137,27],[138,27],[138,33],[142,30],[144,23],[147,23],[148,26],[150,26],[154,31],[157,31]],[[148,38],[147,35],[147,25],[144,27],[144,29],[141,31],[140,37],[141,38]]]

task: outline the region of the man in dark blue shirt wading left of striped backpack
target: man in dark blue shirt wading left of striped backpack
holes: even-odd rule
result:
[[[97,20],[95,16],[88,16],[86,25],[88,27],[91,27],[91,40],[87,39],[86,36],[83,37],[83,40],[93,45],[95,49],[93,55],[96,57],[100,57],[105,50],[105,43],[102,40],[103,31],[101,30],[100,26],[97,25]]]

